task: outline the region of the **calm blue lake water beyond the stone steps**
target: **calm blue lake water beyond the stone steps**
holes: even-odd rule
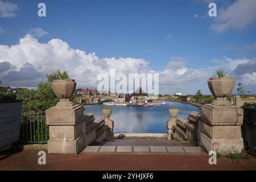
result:
[[[114,133],[167,133],[166,121],[170,119],[168,109],[179,109],[179,118],[187,119],[191,111],[200,111],[199,107],[180,102],[168,102],[170,105],[151,107],[109,106],[112,109],[110,119],[114,120]],[[85,113],[93,113],[97,119],[103,118],[104,105],[85,105]]]

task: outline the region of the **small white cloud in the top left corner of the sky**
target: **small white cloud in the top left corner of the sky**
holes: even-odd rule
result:
[[[15,11],[18,10],[18,6],[11,2],[0,1],[0,17],[1,18],[11,18],[16,16]]]

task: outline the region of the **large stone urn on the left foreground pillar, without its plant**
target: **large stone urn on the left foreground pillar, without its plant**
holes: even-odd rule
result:
[[[70,98],[76,89],[76,82],[71,79],[53,80],[51,86],[58,98]]]

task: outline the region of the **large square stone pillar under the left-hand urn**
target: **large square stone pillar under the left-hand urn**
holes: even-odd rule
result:
[[[86,123],[84,107],[68,98],[61,98],[56,106],[46,110],[49,126],[49,154],[79,154],[85,147]]]

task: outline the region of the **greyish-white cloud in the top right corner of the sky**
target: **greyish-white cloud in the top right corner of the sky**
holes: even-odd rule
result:
[[[237,0],[225,9],[218,9],[218,15],[211,28],[217,33],[228,30],[242,30],[256,21],[256,1]]]

